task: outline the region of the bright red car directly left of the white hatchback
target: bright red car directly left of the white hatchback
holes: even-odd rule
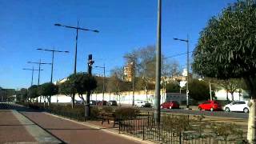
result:
[[[219,104],[217,101],[206,101],[198,105],[199,110],[222,110],[221,104]]]

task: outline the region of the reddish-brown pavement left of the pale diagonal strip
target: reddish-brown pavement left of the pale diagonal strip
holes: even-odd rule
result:
[[[36,142],[11,110],[0,110],[0,143]]]

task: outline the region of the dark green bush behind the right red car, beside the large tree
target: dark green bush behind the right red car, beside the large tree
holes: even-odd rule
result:
[[[198,79],[192,79],[189,82],[190,86],[190,98],[194,100],[207,100],[210,99],[209,84],[204,81],[199,81]]]

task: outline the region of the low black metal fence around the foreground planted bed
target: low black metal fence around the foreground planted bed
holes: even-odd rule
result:
[[[187,116],[186,118],[189,118]],[[177,131],[166,129],[161,122],[159,125],[154,122],[150,113],[138,115],[137,118],[130,118],[119,122],[119,133],[130,134],[143,140],[150,140],[160,143],[171,144],[238,144],[246,143],[242,140],[223,140],[214,137],[214,134],[195,134],[194,131]]]

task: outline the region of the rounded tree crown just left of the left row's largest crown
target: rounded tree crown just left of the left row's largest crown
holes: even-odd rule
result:
[[[43,96],[52,96],[58,94],[58,86],[51,82],[43,83],[38,88],[38,94]]]

